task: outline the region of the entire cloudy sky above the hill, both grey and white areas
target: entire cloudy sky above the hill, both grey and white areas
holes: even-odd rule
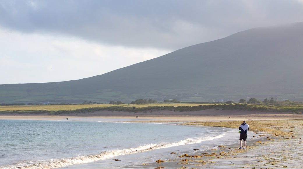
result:
[[[0,0],[0,84],[89,78],[294,22],[303,0]]]

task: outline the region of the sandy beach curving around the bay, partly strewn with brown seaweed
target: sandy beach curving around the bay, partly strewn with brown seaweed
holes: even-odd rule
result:
[[[136,116],[138,115],[138,118]],[[100,111],[74,114],[0,114],[0,119],[82,121],[102,119],[134,123],[177,123],[238,128],[243,120],[250,125],[246,150],[239,144],[213,145],[204,151],[188,150],[171,155],[170,160],[141,164],[142,168],[302,168],[303,115],[289,112],[203,110],[193,112]],[[237,133],[238,134],[238,133]],[[239,141],[237,141],[238,143]],[[173,153],[173,152],[171,152]]]

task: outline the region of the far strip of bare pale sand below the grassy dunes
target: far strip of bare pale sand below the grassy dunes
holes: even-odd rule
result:
[[[138,116],[138,118],[136,118]],[[291,120],[303,119],[303,114],[294,114],[291,112],[261,112],[261,111],[241,111],[241,110],[201,110],[201,111],[151,111],[151,112],[122,112],[122,111],[95,111],[87,113],[70,113],[51,115],[44,114],[14,114],[1,113],[0,119],[49,119],[60,120],[65,118],[125,118],[159,121],[243,121],[243,120]]]

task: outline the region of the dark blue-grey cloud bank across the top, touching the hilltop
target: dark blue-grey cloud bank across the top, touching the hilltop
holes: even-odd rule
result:
[[[27,33],[63,34],[108,45],[170,50],[249,28],[299,22],[303,15],[299,1],[276,0],[0,3],[2,27]]]

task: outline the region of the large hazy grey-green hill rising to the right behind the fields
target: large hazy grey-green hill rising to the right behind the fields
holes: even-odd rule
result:
[[[303,101],[303,22],[253,28],[74,81],[0,85],[0,103]]]

